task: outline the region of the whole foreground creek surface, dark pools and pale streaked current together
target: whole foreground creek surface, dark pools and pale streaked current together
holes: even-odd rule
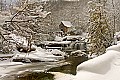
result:
[[[24,66],[16,68],[1,80],[54,80],[51,72],[76,74],[77,65],[88,60],[86,56],[69,57],[58,62],[23,63]]]

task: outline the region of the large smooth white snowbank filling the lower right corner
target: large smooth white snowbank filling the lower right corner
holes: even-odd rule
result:
[[[111,46],[107,52],[77,67],[75,76],[55,74],[55,80],[120,80],[120,44]]]

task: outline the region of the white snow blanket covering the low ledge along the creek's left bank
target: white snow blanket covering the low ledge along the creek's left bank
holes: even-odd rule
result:
[[[52,51],[52,52],[54,52],[54,51]],[[38,47],[36,47],[36,51],[32,51],[29,53],[21,53],[21,52],[18,52],[16,50],[14,52],[16,54],[13,57],[13,59],[30,58],[30,59],[40,60],[40,61],[58,61],[59,59],[64,59],[63,56],[55,56],[55,55],[53,55],[52,52],[48,52],[48,51],[43,50],[43,49],[38,48]],[[56,52],[58,52],[58,51],[56,51]]]

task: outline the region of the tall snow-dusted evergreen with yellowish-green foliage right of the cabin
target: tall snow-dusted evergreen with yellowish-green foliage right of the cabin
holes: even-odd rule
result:
[[[88,42],[89,52],[103,54],[107,47],[111,46],[113,33],[106,12],[106,0],[90,1]]]

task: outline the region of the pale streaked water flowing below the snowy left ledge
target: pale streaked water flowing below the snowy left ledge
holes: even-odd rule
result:
[[[6,71],[7,71],[7,75],[4,76],[3,78],[0,78],[0,80],[16,80],[19,73],[24,74],[24,72],[28,72],[28,73],[34,72],[34,71],[35,72],[45,72],[46,70],[48,70],[52,67],[55,67],[56,64],[58,64],[58,63],[57,62],[38,62],[38,63],[23,63],[23,64],[7,65],[7,62],[6,62],[4,64],[6,64],[6,65],[0,66],[0,69],[6,69],[6,70],[3,70],[3,74],[1,74],[1,75],[4,75],[4,72],[6,72]],[[26,79],[24,79],[24,80],[26,80]],[[27,80],[29,80],[29,79],[27,79]]]

